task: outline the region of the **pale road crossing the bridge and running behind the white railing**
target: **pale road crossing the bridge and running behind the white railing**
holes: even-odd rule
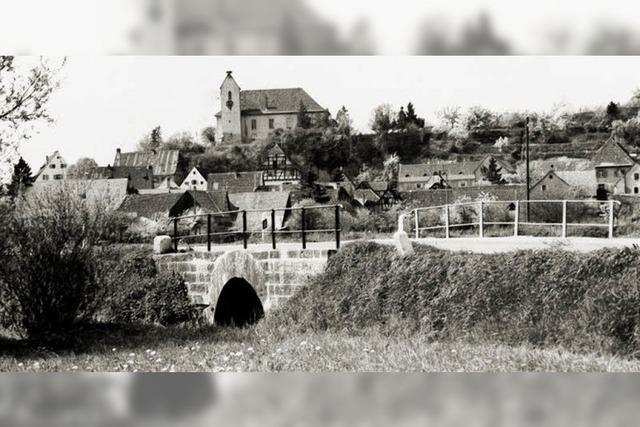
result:
[[[380,244],[393,244],[392,239],[376,239],[373,240]],[[557,237],[531,237],[531,236],[518,236],[518,237],[457,237],[451,239],[413,239],[414,243],[430,245],[440,249],[446,249],[451,251],[470,251],[475,253],[497,253],[497,252],[509,252],[519,249],[549,249],[560,248],[566,250],[574,250],[581,252],[590,252],[602,248],[623,248],[631,247],[633,245],[640,246],[640,238],[591,238],[591,237],[570,237],[567,239],[561,239]],[[342,242],[342,245],[348,245],[354,242],[354,240],[347,240]],[[335,242],[309,242],[307,243],[307,249],[335,249]],[[278,249],[285,250],[300,250],[302,244],[297,242],[283,242],[278,243]],[[206,245],[193,246],[194,250],[205,251]],[[238,245],[214,245],[212,251],[229,251],[242,249],[242,244]],[[249,245],[249,249],[252,251],[267,251],[271,249],[270,243],[254,243]]]

